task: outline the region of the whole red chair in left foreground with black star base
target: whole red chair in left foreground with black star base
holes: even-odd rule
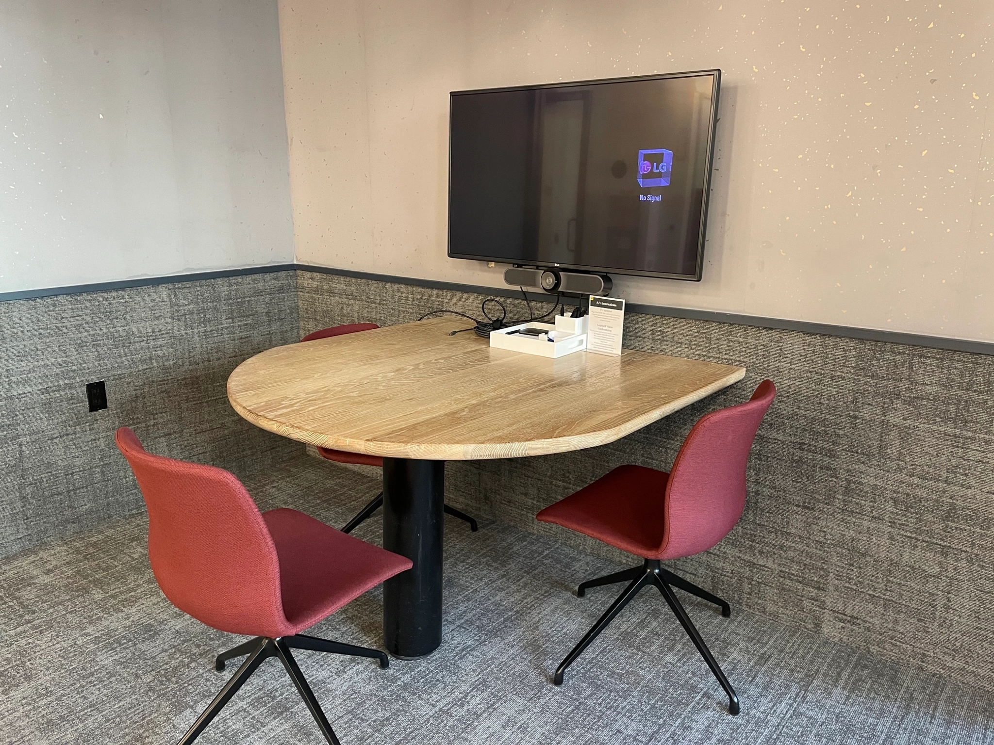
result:
[[[175,461],[145,451],[127,427],[117,430],[148,508],[148,557],[162,592],[181,611],[221,631],[254,639],[220,656],[248,655],[180,740],[197,739],[263,661],[279,658],[325,739],[338,738],[290,649],[374,658],[379,650],[300,634],[395,574],[410,569],[385,551],[295,510],[259,514],[242,483],[228,471]]]

